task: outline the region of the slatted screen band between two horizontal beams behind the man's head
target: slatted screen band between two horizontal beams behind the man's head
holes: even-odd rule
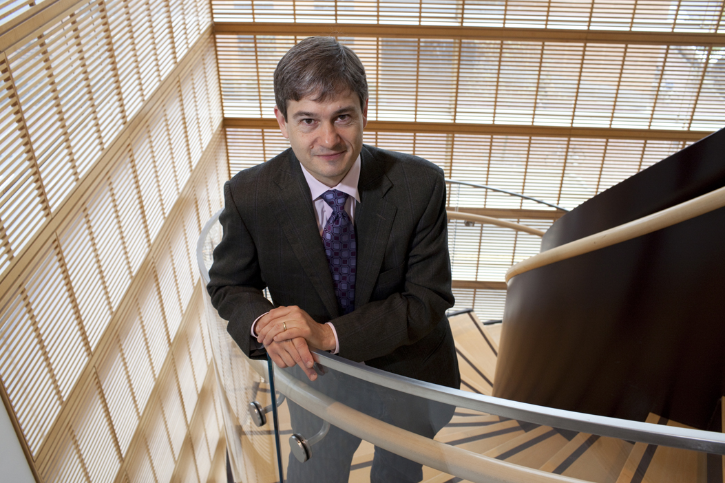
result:
[[[273,117],[271,74],[299,40],[217,35],[225,117]],[[341,41],[365,64],[370,120],[722,127],[722,47],[440,38]]]

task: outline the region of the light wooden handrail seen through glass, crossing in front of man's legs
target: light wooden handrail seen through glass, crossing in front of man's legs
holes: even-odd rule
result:
[[[285,371],[275,371],[278,390],[320,419],[373,445],[476,483],[582,483],[584,480],[530,469],[447,445],[345,406]]]

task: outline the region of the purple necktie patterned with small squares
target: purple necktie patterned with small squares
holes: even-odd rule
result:
[[[347,193],[327,190],[322,198],[332,207],[332,215],[322,232],[327,261],[332,274],[337,303],[343,314],[355,310],[355,227],[345,212]]]

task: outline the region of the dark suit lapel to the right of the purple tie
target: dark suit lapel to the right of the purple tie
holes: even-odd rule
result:
[[[357,277],[355,280],[355,306],[370,301],[378,280],[385,248],[397,207],[384,199],[392,188],[382,161],[375,159],[363,146],[363,167],[357,190],[360,203],[355,206],[355,235],[357,235]]]

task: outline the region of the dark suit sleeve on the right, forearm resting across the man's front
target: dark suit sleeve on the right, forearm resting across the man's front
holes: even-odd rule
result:
[[[447,308],[453,306],[445,198],[441,172],[410,238],[402,290],[332,321],[340,356],[366,361],[412,345],[442,322]],[[388,272],[378,275],[378,284],[395,277]]]

